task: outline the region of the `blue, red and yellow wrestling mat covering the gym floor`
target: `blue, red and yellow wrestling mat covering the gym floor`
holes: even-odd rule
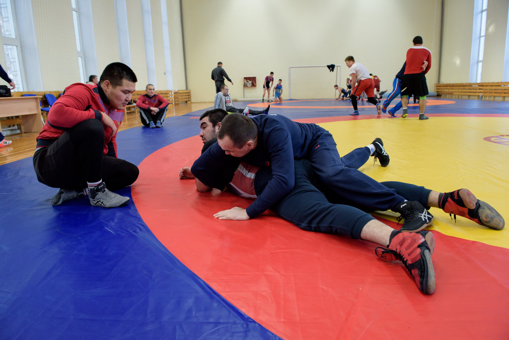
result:
[[[250,108],[267,103],[236,102]],[[204,110],[118,134],[139,166],[124,207],[52,206],[32,158],[0,166],[0,338],[490,338],[509,335],[509,231],[432,208],[436,291],[425,296],[375,244],[303,231],[267,212],[212,215],[250,201],[179,179],[202,148]],[[289,100],[270,114],[328,129],[340,154],[380,137],[390,155],[360,170],[440,192],[467,188],[509,217],[506,102],[431,98],[427,121],[359,102]],[[401,115],[401,111],[397,113]],[[393,213],[376,213],[399,228]],[[44,334],[44,335],[41,335]]]

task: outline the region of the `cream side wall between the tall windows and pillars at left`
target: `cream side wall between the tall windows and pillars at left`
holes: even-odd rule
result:
[[[174,89],[185,89],[179,0],[167,0],[166,3]],[[100,75],[107,64],[120,59],[115,2],[91,0],[91,5],[94,27],[88,32],[81,32],[81,35],[92,34],[92,32],[94,34],[97,74]],[[154,85],[156,89],[166,89],[161,2],[150,0],[150,6],[157,72],[157,84]],[[69,84],[79,82],[71,1],[32,0],[32,7],[44,90],[63,90]],[[131,67],[138,77],[136,89],[143,90],[148,83],[148,76],[142,2],[126,0],[126,7],[127,17],[123,20],[128,21]],[[5,65],[3,53],[0,54],[0,63]],[[25,74],[25,77],[29,76]],[[88,74],[86,76],[88,77]]]

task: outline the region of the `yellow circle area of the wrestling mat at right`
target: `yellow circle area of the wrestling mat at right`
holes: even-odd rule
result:
[[[378,181],[395,180],[438,192],[467,188],[477,199],[509,217],[509,119],[498,117],[430,117],[365,119],[320,123],[334,136],[340,155],[380,137],[390,156],[382,168],[373,158],[359,170]],[[494,137],[492,141],[485,140]],[[500,142],[502,140],[502,142]],[[499,141],[495,143],[494,141]],[[431,227],[449,236],[509,248],[509,227],[492,230],[461,216],[456,223],[431,208]],[[395,220],[397,214],[383,217]]]

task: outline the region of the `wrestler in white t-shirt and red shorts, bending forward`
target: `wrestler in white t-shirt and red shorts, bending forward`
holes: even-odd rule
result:
[[[353,113],[350,116],[358,116],[359,111],[357,110],[357,96],[360,96],[362,92],[367,95],[367,101],[377,107],[377,115],[382,113],[382,109],[375,99],[375,83],[371,79],[370,72],[361,63],[356,63],[352,56],[345,58],[345,63],[350,68],[349,74],[352,78],[352,94],[350,99],[352,100]]]

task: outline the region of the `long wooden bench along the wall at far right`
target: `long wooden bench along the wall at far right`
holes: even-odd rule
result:
[[[509,101],[509,82],[436,84],[443,98]]]

